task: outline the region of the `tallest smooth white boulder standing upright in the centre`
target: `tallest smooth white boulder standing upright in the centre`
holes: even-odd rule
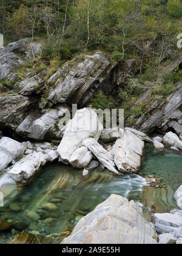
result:
[[[67,123],[61,143],[58,146],[61,160],[69,162],[72,154],[82,146],[84,139],[93,137],[98,140],[102,130],[103,125],[99,122],[95,111],[90,108],[76,111],[73,119]]]

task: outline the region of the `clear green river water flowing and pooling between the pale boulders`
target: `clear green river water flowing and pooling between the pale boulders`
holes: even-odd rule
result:
[[[182,184],[181,163],[181,153],[157,151],[149,145],[141,171],[144,175],[161,177],[175,190]],[[0,219],[12,223],[15,230],[0,232],[0,243],[8,243],[22,230],[40,235],[72,230],[80,218],[112,193],[140,202],[145,187],[146,180],[140,175],[115,176],[107,170],[94,170],[89,178],[83,179],[81,170],[58,163],[46,165],[27,187],[17,189],[11,185],[4,190],[5,204],[0,207]],[[170,197],[174,190],[170,190]],[[50,202],[55,209],[45,209],[45,204]],[[17,210],[11,209],[12,203],[18,206]],[[38,213],[39,220],[32,220],[30,211]]]

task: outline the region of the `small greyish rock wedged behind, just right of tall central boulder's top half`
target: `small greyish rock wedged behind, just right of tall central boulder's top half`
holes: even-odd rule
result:
[[[119,128],[116,128],[116,127],[103,130],[101,133],[101,136],[99,137],[99,140],[101,140],[101,142],[104,142],[104,143],[113,142],[114,140],[120,138],[123,135],[121,131],[122,131],[121,129],[119,130]]]

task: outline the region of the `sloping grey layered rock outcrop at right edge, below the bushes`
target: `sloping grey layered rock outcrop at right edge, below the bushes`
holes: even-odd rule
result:
[[[173,128],[178,136],[182,134],[182,83],[175,84],[175,92],[170,95],[169,103],[156,102],[147,110],[146,114],[139,117],[136,121],[136,128],[149,133],[154,128],[160,129],[165,133],[169,128]],[[150,98],[150,95],[149,95]],[[146,99],[147,100],[147,99]]]

